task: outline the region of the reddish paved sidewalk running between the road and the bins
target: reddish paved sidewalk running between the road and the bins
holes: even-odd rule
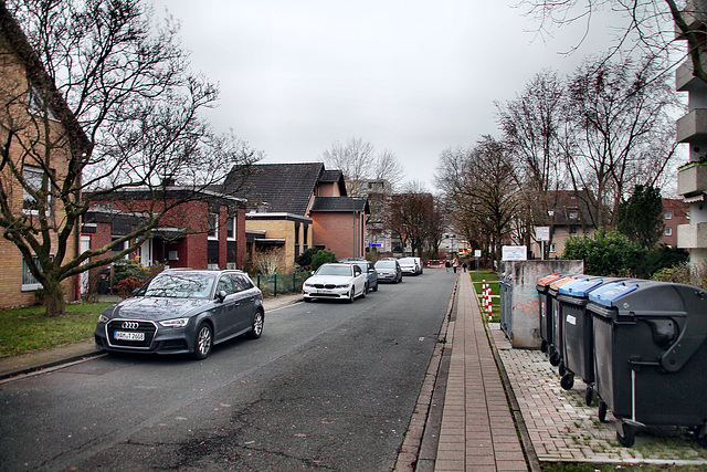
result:
[[[435,471],[526,471],[468,274],[457,279],[456,310],[446,332],[452,347]]]

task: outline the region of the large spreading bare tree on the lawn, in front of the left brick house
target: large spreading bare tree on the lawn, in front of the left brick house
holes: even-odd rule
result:
[[[139,0],[11,0],[0,9],[14,53],[29,64],[25,75],[3,82],[0,227],[42,284],[48,314],[55,315],[64,311],[63,280],[134,251],[162,216],[213,197],[213,186],[234,165],[260,153],[232,134],[212,132],[201,112],[217,104],[217,87],[189,70],[173,22],[155,23]],[[180,197],[168,199],[175,185]],[[31,212],[13,206],[17,188],[32,200]],[[134,231],[68,253],[92,202],[130,189],[151,199],[134,212]]]

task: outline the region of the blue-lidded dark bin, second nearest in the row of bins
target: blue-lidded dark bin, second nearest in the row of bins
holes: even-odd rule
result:
[[[597,287],[616,279],[583,276],[560,286],[557,301],[560,305],[562,326],[562,361],[564,374],[560,385],[569,390],[574,376],[587,384],[585,400],[591,405],[594,384],[594,344],[592,340],[592,316],[587,312],[589,294]]]

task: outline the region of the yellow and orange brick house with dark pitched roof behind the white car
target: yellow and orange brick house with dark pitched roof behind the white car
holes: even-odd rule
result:
[[[249,258],[271,250],[278,270],[288,272],[309,248],[331,250],[337,258],[366,255],[367,199],[348,197],[340,170],[323,162],[257,164],[245,177],[234,169],[225,193],[247,200],[245,230]]]

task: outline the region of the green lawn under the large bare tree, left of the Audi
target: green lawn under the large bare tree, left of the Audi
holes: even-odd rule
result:
[[[66,314],[44,316],[43,306],[0,311],[0,356],[61,346],[93,337],[96,321],[110,303],[80,303],[66,306]]]

